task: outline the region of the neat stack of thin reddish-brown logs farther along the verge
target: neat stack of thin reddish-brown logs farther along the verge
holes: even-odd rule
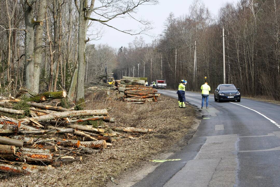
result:
[[[121,84],[119,93],[124,93],[123,100],[128,103],[143,104],[145,102],[157,102],[160,94],[156,89],[148,86]]]

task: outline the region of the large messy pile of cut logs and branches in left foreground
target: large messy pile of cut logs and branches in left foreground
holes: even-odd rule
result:
[[[40,98],[42,94],[35,97]],[[59,98],[59,92],[52,94]],[[50,94],[45,94],[50,100]],[[34,99],[34,96],[29,99]],[[62,91],[60,98],[65,98]],[[0,172],[15,174],[50,170],[73,161],[81,161],[120,138],[135,137],[122,132],[149,133],[152,129],[109,127],[114,123],[108,116],[110,108],[102,110],[74,110],[26,101],[29,112],[12,109],[21,100],[0,98]],[[28,99],[28,100],[29,100]],[[40,99],[39,99],[40,100]],[[38,100],[38,102],[40,102]],[[3,113],[13,114],[7,117]],[[29,113],[29,114],[28,114]]]

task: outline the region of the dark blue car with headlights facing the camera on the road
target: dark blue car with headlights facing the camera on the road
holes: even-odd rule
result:
[[[239,90],[233,84],[219,84],[214,93],[214,100],[218,102],[237,100],[240,102],[241,93]]]

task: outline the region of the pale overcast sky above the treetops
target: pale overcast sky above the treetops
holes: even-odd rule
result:
[[[216,17],[220,7],[226,2],[237,2],[238,0],[202,0],[206,7],[210,10],[213,17]],[[159,0],[159,4],[155,6],[140,6],[136,17],[142,17],[153,22],[153,27],[150,31],[151,35],[158,36],[163,31],[164,22],[170,12],[173,12],[175,17],[189,13],[189,6],[192,4],[193,0]],[[139,28],[138,23],[135,20],[117,18],[108,22],[108,24],[117,27],[118,29],[137,29]],[[100,43],[108,43],[110,46],[119,48],[121,46],[128,46],[128,43],[133,41],[137,36],[143,36],[146,43],[150,43],[153,38],[147,35],[136,35],[131,36],[129,34],[122,33],[113,28],[104,26],[96,23],[90,30],[88,34],[94,33],[92,31],[94,28],[102,28],[104,31],[103,36],[100,40],[90,41],[91,44],[98,45]],[[139,30],[139,29],[138,29]]]

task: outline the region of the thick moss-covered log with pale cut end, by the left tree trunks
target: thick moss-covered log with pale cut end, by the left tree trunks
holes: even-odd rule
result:
[[[45,102],[45,101],[50,101],[53,99],[63,99],[66,97],[66,91],[59,91],[59,92],[44,92],[42,94],[39,94],[35,97],[31,97],[28,99],[28,101],[33,101],[33,102]]]

